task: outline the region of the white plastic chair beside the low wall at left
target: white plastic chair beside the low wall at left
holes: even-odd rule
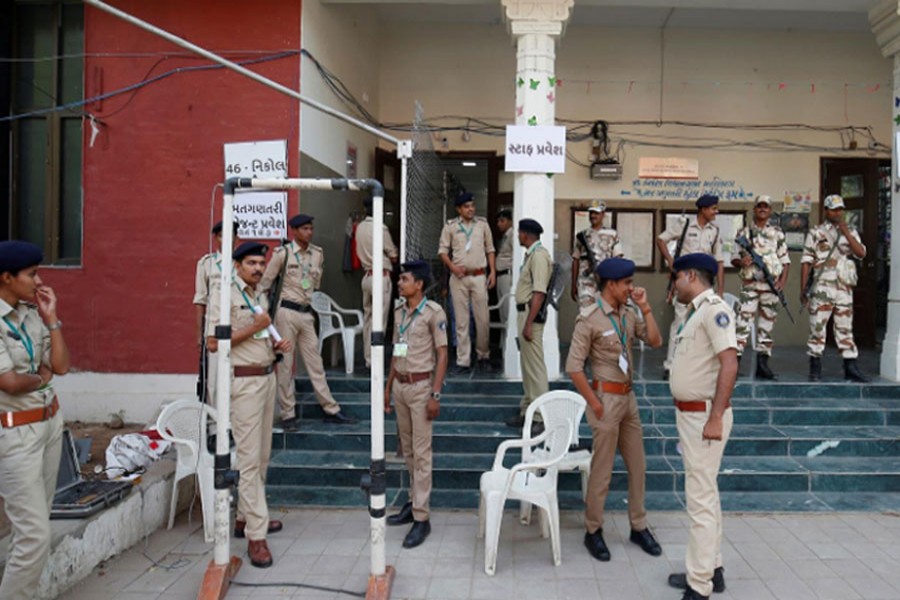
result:
[[[216,410],[196,399],[175,400],[163,408],[156,419],[160,437],[175,445],[178,453],[175,463],[175,481],[172,484],[172,502],[169,506],[169,529],[175,522],[178,504],[178,482],[196,473],[203,509],[203,537],[213,541],[215,529],[215,490],[213,489],[213,456],[206,450],[207,418],[215,421]]]

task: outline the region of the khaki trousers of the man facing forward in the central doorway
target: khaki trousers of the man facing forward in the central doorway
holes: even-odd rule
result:
[[[484,275],[450,276],[450,297],[456,319],[456,364],[468,367],[472,362],[472,341],[469,339],[469,304],[475,317],[475,353],[478,360],[491,357],[487,304],[487,278]]]

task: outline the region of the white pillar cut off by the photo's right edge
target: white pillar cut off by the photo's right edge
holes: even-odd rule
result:
[[[888,321],[881,350],[881,376],[900,381],[900,177],[897,133],[900,132],[900,1],[882,0],[869,11],[869,23],[881,53],[894,61],[893,130],[891,132],[891,272]],[[871,249],[870,249],[871,251]]]

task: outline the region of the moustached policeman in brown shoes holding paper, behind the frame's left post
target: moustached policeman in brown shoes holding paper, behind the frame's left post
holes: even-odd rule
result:
[[[281,521],[269,520],[266,470],[272,454],[272,418],[275,412],[275,350],[290,352],[291,342],[275,342],[269,335],[272,320],[268,300],[259,290],[268,247],[244,242],[234,254],[235,279],[231,286],[231,428],[237,451],[238,510],[235,537],[246,537],[250,564],[272,565],[266,534],[281,531]],[[262,312],[257,314],[256,307]],[[222,309],[219,296],[210,299],[206,344],[218,348],[216,326]]]

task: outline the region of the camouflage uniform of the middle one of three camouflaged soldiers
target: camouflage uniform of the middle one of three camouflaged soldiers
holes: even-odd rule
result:
[[[791,264],[788,256],[787,243],[784,232],[780,227],[766,224],[760,229],[755,224],[741,229],[736,237],[744,236],[750,240],[750,244],[763,262],[769,268],[769,273],[776,281],[784,270],[784,265]],[[735,244],[732,260],[740,260],[748,256],[740,246]],[[759,315],[756,324],[756,350],[759,354],[772,355],[772,328],[775,326],[775,316],[778,313],[778,296],[766,283],[762,270],[756,265],[742,267],[739,273],[741,278],[740,311],[737,314],[735,332],[737,334],[738,356],[743,354],[750,337],[750,326]]]

